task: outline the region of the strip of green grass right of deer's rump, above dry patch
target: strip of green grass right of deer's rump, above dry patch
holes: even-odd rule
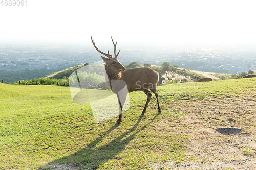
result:
[[[160,98],[171,101],[173,99],[197,100],[207,96],[219,98],[220,96],[246,94],[256,89],[255,79],[230,79],[212,82],[189,82],[160,86]]]

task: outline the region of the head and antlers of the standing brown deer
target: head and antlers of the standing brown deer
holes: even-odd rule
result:
[[[111,36],[111,39],[112,39],[112,36]],[[104,56],[108,57],[103,57],[103,56],[100,56],[103,61],[105,62],[105,67],[106,69],[108,70],[111,70],[111,72],[114,74],[114,75],[118,75],[119,72],[121,71],[124,71],[125,70],[125,67],[120,63],[120,61],[117,59],[117,56],[119,55],[119,52],[116,54],[116,43],[114,43],[113,39],[112,39],[112,42],[114,44],[114,54],[115,54],[115,57],[113,57],[112,55],[110,55],[110,52],[108,50],[108,54],[104,53],[104,52],[101,52],[95,45],[95,42],[92,38],[92,34],[91,34],[91,40],[92,40],[92,43],[93,43],[93,46],[95,47],[95,49],[100,53],[100,54],[103,54]]]

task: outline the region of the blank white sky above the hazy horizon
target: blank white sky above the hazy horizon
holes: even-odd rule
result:
[[[254,1],[27,0],[0,5],[0,42],[256,42]]]

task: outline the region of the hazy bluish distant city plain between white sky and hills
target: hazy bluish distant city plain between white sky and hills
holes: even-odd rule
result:
[[[113,46],[113,45],[112,45]],[[106,46],[101,46],[106,47]],[[111,50],[113,50],[111,48]],[[253,46],[166,46],[123,48],[118,56],[123,64],[133,61],[161,65],[169,62],[179,68],[238,74],[256,70]],[[91,45],[7,45],[0,44],[0,70],[66,69],[84,63],[102,61]]]

